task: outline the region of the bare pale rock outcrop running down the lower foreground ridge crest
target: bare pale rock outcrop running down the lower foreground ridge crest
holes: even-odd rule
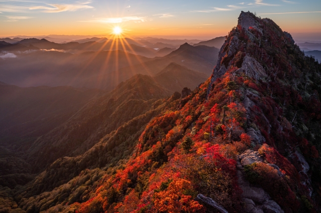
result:
[[[271,199],[269,194],[261,187],[251,185],[245,178],[244,166],[254,162],[263,162],[263,157],[258,151],[246,150],[238,156],[237,159],[237,177],[238,184],[243,190],[243,202],[246,212],[261,212],[261,213],[284,213],[281,207]],[[275,169],[278,167],[274,164],[268,164]]]

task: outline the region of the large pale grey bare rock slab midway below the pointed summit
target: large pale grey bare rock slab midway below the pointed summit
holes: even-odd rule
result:
[[[250,56],[243,58],[242,67],[236,70],[236,72],[243,72],[249,77],[254,77],[256,80],[267,76],[263,66],[255,58]]]

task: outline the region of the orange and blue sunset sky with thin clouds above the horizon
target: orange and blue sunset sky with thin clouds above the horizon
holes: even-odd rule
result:
[[[0,37],[104,35],[211,39],[241,11],[269,17],[296,39],[321,40],[321,0],[0,0]]]

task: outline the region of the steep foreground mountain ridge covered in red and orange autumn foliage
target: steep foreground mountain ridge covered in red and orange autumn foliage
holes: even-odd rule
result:
[[[320,211],[320,76],[321,65],[304,56],[289,33],[270,19],[241,12],[207,81],[181,98],[174,93],[164,99],[162,111],[141,130],[119,128],[119,134],[72,162],[66,157],[54,162],[18,192],[20,207],[30,212]],[[109,160],[118,151],[108,148],[114,137],[138,138],[129,158],[123,153],[118,162]],[[86,169],[78,163],[84,159]],[[93,164],[97,168],[90,167],[92,161],[99,162]],[[71,168],[77,169],[69,175]],[[52,175],[55,184],[47,186]],[[74,178],[67,182],[68,175]],[[35,190],[45,186],[55,188]]]

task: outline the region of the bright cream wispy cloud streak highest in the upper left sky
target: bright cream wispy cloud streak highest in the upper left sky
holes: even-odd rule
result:
[[[41,9],[43,12],[64,12],[64,11],[76,11],[79,9],[90,9],[93,6],[87,5],[90,1],[76,4],[57,4],[47,3],[49,6],[31,6],[29,9]]]

